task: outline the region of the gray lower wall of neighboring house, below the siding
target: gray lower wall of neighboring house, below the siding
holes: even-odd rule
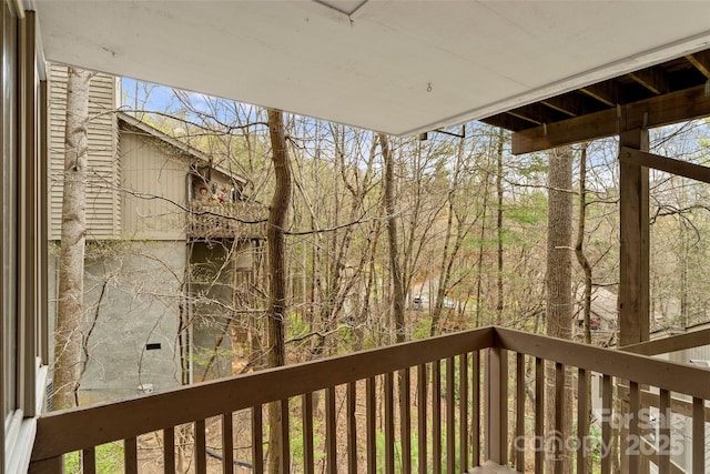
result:
[[[57,256],[50,262],[52,322],[57,262]],[[80,387],[82,404],[180,385],[185,264],[184,241],[88,245],[82,332],[90,356]]]

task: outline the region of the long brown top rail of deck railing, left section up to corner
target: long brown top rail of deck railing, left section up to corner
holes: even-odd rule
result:
[[[490,347],[494,333],[483,327],[50,413],[38,421],[32,461]]]

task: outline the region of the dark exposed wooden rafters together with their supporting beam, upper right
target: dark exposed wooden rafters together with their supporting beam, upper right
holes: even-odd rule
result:
[[[687,54],[560,95],[519,107],[483,122],[514,132],[513,152],[661,127],[710,115],[710,50]],[[647,119],[643,119],[645,114]]]

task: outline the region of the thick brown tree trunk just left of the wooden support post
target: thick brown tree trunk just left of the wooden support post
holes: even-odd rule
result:
[[[554,150],[549,157],[547,210],[547,334],[571,339],[572,294],[571,294],[571,242],[572,242],[572,149],[564,147]],[[548,470],[555,473],[571,472],[572,453],[565,447],[566,436],[571,435],[571,386],[570,373],[566,373],[561,426],[555,418],[555,367],[548,367],[546,414],[548,438],[561,441],[561,446],[550,443],[554,452],[548,453]],[[561,428],[561,430],[560,430]],[[554,431],[558,430],[558,433]],[[559,437],[558,437],[559,436]],[[561,447],[561,448],[560,448]],[[552,460],[552,457],[555,460]],[[546,470],[547,471],[547,470]]]

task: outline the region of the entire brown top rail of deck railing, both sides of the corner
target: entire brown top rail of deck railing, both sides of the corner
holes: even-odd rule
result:
[[[32,461],[494,346],[710,400],[710,371],[704,369],[509,329],[483,327],[51,413],[38,421]]]

